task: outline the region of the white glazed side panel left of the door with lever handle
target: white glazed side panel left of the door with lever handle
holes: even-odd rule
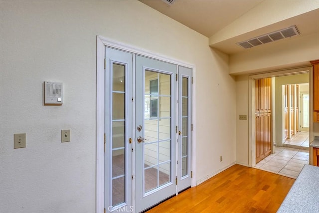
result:
[[[105,50],[105,209],[132,206],[132,54]]]

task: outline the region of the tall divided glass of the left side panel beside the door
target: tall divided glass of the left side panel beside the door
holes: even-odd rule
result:
[[[112,205],[125,202],[125,66],[113,64]]]

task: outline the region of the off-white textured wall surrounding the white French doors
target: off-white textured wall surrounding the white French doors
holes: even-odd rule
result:
[[[235,161],[235,80],[207,37],[138,1],[2,1],[2,212],[95,212],[97,35],[195,65],[196,180]],[[43,105],[44,81],[63,82],[62,106]]]

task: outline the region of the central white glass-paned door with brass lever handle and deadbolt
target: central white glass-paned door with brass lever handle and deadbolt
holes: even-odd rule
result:
[[[136,56],[135,210],[176,194],[174,64]]]

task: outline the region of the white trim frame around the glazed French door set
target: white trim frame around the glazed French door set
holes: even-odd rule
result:
[[[105,72],[105,47],[113,47],[123,51],[128,51],[130,53],[143,55],[146,57],[162,60],[168,63],[176,64],[177,66],[184,66],[193,70],[193,78],[196,77],[196,67],[194,65],[171,59],[160,54],[154,54],[147,50],[137,48],[125,43],[114,41],[102,36],[97,36],[96,38],[96,212],[104,212],[104,117],[105,117],[105,82],[104,82],[104,72]],[[135,69],[135,62],[132,63],[133,69]],[[177,69],[178,70],[178,69]],[[135,78],[135,75],[133,75]],[[135,79],[133,79],[135,80]],[[191,181],[191,186],[196,186],[196,81],[193,82],[192,87],[192,122],[193,122],[193,131],[192,131],[192,160],[191,168],[193,171],[193,178]],[[135,86],[133,84],[133,86]],[[133,94],[134,96],[134,94]],[[135,98],[135,97],[134,97]],[[134,110],[134,108],[133,108]],[[133,145],[134,146],[134,145]],[[177,166],[177,162],[176,162]],[[133,175],[135,174],[134,167],[132,168]],[[135,191],[134,182],[132,184],[132,191]],[[134,205],[135,200],[134,196],[132,198],[132,204]]]

